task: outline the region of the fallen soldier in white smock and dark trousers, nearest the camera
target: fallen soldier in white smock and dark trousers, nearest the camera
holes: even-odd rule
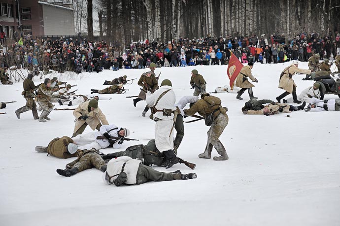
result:
[[[103,180],[107,185],[139,185],[149,181],[172,181],[197,178],[196,173],[182,174],[180,170],[173,173],[159,172],[141,164],[140,160],[128,156],[117,157],[107,163]]]

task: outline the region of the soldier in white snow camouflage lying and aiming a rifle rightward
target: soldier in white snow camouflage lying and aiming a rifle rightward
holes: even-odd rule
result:
[[[79,134],[73,137],[73,141],[78,145],[78,149],[103,149],[112,145],[113,148],[120,148],[124,142],[124,137],[130,135],[130,130],[126,128],[119,128],[114,124],[102,125],[99,131],[89,132],[86,134]],[[97,139],[97,136],[104,136],[104,139]],[[110,137],[119,137],[118,139],[111,139]]]

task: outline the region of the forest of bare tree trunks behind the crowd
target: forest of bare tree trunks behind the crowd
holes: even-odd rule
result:
[[[82,0],[74,4],[83,11],[79,7]],[[339,0],[96,0],[93,6],[98,11],[100,34],[126,43],[273,32],[289,39],[303,31],[334,36],[340,30]],[[76,7],[75,11],[82,15]],[[92,18],[85,18],[91,24]],[[84,22],[84,18],[76,19],[78,30]]]

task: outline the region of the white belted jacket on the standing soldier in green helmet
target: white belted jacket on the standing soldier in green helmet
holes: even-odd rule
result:
[[[158,100],[158,98],[166,91],[168,92]],[[161,86],[157,91],[155,91],[155,93],[151,95],[148,94],[149,93],[147,93],[146,103],[149,104],[151,107],[154,106],[157,110],[159,110],[153,114],[153,117],[161,120],[172,120],[174,116],[173,111],[176,110],[176,108],[174,107],[176,96],[172,90],[172,87]],[[157,100],[158,103],[156,104]],[[170,116],[166,116],[163,114],[164,109],[169,109],[172,111]]]

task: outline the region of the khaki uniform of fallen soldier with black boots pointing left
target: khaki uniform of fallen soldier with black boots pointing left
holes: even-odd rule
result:
[[[77,167],[78,172],[81,172],[85,169],[91,169],[92,167],[96,167],[97,169],[101,170],[103,165],[106,165],[106,163],[99,155],[99,151],[91,149],[79,152],[78,158],[68,163],[66,168]]]

